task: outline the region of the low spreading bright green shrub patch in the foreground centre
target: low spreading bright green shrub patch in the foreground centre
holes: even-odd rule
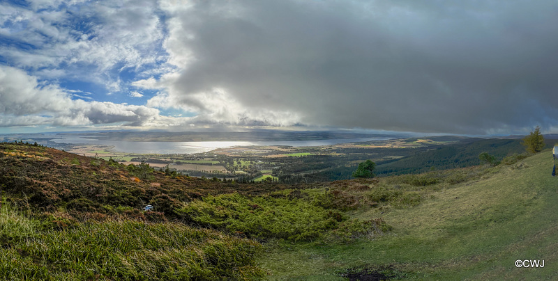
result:
[[[342,215],[304,199],[207,196],[179,210],[186,220],[259,239],[310,240],[338,225]]]

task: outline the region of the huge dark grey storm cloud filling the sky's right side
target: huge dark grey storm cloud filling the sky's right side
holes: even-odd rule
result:
[[[223,88],[308,125],[499,133],[558,116],[555,1],[197,1],[175,101]],[[174,22],[173,22],[174,21]],[[174,27],[173,27],[174,26]]]

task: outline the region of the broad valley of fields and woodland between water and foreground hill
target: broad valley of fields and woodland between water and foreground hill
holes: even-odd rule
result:
[[[217,177],[259,182],[268,179],[283,183],[328,182],[350,179],[359,162],[371,159],[377,174],[399,175],[474,166],[478,154],[489,151],[502,159],[521,153],[518,139],[482,139],[462,136],[432,136],[370,140],[335,145],[301,146],[250,145],[222,147],[195,154],[135,154],[115,152],[114,147],[72,145],[68,152],[114,159],[128,165],[145,161],[194,177]]]

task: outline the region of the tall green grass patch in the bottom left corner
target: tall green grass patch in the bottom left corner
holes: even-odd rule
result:
[[[248,239],[179,223],[78,223],[62,230],[0,208],[2,280],[234,280],[261,275]]]

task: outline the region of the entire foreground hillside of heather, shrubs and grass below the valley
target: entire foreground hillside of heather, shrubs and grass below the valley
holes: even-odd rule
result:
[[[0,143],[0,276],[555,279],[551,170],[546,151],[421,175],[236,184]]]

